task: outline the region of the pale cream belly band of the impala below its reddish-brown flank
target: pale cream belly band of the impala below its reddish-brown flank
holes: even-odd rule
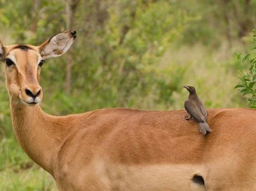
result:
[[[111,190],[204,190],[192,178],[200,167],[193,165],[109,165],[98,167],[96,174],[108,180]]]

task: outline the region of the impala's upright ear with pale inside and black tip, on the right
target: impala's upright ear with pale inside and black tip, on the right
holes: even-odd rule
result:
[[[68,30],[58,33],[39,46],[40,54],[43,59],[61,56],[67,52],[75,39],[76,31]]]

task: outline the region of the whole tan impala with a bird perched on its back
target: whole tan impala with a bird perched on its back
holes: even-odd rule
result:
[[[0,43],[16,138],[59,190],[256,190],[253,109],[208,109],[206,136],[185,110],[43,112],[43,60],[75,38],[65,31],[40,46]]]

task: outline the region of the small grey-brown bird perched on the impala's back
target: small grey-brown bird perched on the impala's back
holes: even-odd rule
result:
[[[188,100],[185,100],[185,110],[190,114],[190,117],[185,116],[186,120],[192,117],[198,122],[200,132],[205,135],[207,132],[211,132],[209,125],[207,124],[207,112],[203,101],[196,94],[193,86],[183,86],[189,91]]]

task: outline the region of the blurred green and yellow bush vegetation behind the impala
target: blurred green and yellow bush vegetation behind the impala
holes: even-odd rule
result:
[[[247,107],[235,85],[256,23],[252,0],[0,0],[3,44],[39,45],[75,29],[70,51],[42,67],[45,112],[183,109],[194,86],[207,108]],[[12,132],[0,66],[0,190],[56,190]]]

